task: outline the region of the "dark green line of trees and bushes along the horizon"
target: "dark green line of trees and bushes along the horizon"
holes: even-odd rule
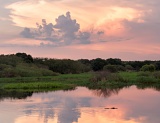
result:
[[[26,53],[0,55],[0,77],[52,76],[89,71],[154,71],[160,70],[159,61],[122,61],[109,59],[54,59],[33,58]]]

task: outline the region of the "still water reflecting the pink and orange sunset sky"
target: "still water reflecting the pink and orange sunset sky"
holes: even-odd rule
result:
[[[160,92],[154,89],[13,95],[0,97],[0,123],[160,123]]]

